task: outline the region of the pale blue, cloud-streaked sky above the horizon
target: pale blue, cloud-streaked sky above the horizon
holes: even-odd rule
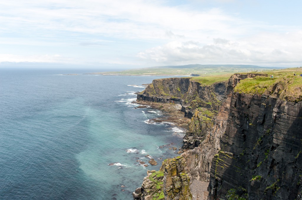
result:
[[[302,66],[302,1],[0,0],[0,67]]]

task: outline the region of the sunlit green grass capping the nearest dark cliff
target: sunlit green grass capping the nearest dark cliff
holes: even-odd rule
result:
[[[263,72],[268,77],[256,76],[241,80],[234,91],[245,94],[277,95],[288,101],[302,100],[302,68],[288,68]],[[294,73],[297,74],[294,76]],[[273,78],[270,76],[273,75]]]

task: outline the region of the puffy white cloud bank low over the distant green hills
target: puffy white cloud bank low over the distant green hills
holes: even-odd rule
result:
[[[302,63],[302,32],[262,33],[230,41],[214,38],[213,43],[169,42],[140,52],[137,56],[159,63],[249,63],[278,65]]]

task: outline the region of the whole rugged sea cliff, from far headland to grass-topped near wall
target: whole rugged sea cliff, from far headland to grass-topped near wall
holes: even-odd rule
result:
[[[163,162],[162,187],[146,192],[154,185],[149,173],[135,199],[301,199],[301,90],[289,95],[300,81],[265,73],[235,74],[210,85],[154,80],[137,98],[180,103],[191,121],[185,152],[177,162]],[[160,192],[161,198],[146,198]]]

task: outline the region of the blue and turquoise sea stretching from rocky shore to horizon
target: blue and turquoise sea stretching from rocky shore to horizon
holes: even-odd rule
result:
[[[179,148],[183,133],[131,103],[163,77],[78,71],[0,70],[0,199],[131,200],[147,170],[176,156],[158,146]],[[145,155],[159,165],[140,165]]]

